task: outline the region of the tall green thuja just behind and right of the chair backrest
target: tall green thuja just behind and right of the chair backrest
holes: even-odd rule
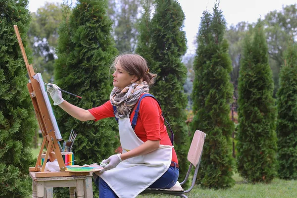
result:
[[[234,124],[229,119],[233,86],[228,43],[223,38],[226,21],[218,5],[213,13],[204,11],[197,35],[198,48],[194,61],[192,130],[206,133],[198,182],[207,188],[228,188],[232,179],[231,134]]]

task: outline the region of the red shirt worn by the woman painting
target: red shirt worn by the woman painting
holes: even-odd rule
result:
[[[138,102],[136,103],[135,108],[137,105]],[[114,117],[113,107],[109,100],[101,106],[89,109],[89,112],[96,118],[95,121],[107,117]],[[134,114],[135,109],[133,109],[130,115],[131,123]],[[172,146],[166,126],[164,125],[162,110],[158,102],[151,97],[142,99],[134,130],[137,137],[143,142],[146,142],[147,140],[159,140],[161,145]],[[178,163],[174,148],[172,148],[172,161]]]

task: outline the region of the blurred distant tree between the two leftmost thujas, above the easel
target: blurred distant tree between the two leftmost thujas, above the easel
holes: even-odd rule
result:
[[[62,21],[62,7],[58,3],[46,2],[32,13],[28,40],[33,51],[36,73],[41,72],[46,83],[53,81],[53,64],[58,40],[58,27]]]

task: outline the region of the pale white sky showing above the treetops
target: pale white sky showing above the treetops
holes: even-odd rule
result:
[[[45,2],[59,2],[63,0],[29,0],[29,10],[35,12]],[[70,1],[70,0],[68,0]],[[75,2],[76,0],[73,0]],[[184,31],[188,40],[187,53],[195,53],[194,41],[198,33],[200,18],[204,10],[212,11],[217,0],[178,0],[186,15]],[[223,11],[227,26],[236,25],[241,21],[256,22],[273,10],[281,10],[283,5],[297,3],[297,0],[220,0],[219,8]]]

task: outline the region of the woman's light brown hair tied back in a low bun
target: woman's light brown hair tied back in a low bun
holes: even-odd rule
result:
[[[118,55],[115,57],[111,69],[115,70],[118,61],[126,72],[138,78],[137,81],[146,81],[149,86],[154,83],[154,78],[157,75],[149,73],[148,63],[141,55],[130,53]]]

